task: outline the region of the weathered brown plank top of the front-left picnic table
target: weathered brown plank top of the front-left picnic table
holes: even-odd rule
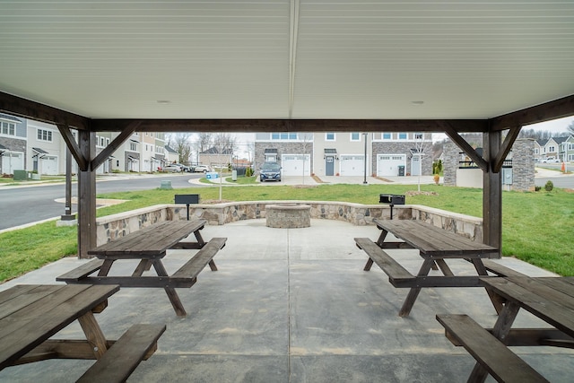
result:
[[[63,285],[57,292],[0,320],[0,370],[118,290],[115,285]]]

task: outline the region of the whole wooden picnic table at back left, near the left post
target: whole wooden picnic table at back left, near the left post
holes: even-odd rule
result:
[[[97,257],[90,262],[59,275],[56,280],[65,283],[118,284],[122,287],[158,287],[163,288],[170,299],[173,309],[179,317],[186,316],[176,288],[189,288],[197,281],[206,265],[217,271],[213,257],[225,246],[226,238],[213,238],[205,242],[199,232],[204,228],[205,220],[166,221],[142,230],[135,231],[116,240],[93,248],[88,254]],[[193,233],[196,241],[181,240]],[[169,275],[162,263],[168,249],[199,249],[185,265]],[[139,259],[131,275],[109,275],[109,271],[118,260]],[[157,275],[143,275],[145,271],[155,269]],[[98,272],[97,275],[92,275]]]

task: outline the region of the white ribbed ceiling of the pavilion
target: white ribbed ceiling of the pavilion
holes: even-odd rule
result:
[[[573,64],[572,1],[0,2],[0,91],[89,118],[492,118]]]

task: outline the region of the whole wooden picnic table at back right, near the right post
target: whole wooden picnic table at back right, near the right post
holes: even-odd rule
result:
[[[369,271],[376,262],[389,276],[395,287],[410,288],[399,316],[407,317],[414,301],[423,287],[483,287],[479,276],[488,275],[483,258],[499,257],[499,249],[493,248],[457,233],[446,231],[427,222],[412,220],[373,220],[381,231],[373,242],[367,238],[355,238],[359,248],[365,250],[369,260],[364,267]],[[388,241],[391,233],[401,241]],[[413,275],[393,257],[387,248],[416,248],[422,257],[418,274]],[[448,259],[465,259],[474,265],[477,275],[455,275],[447,264]],[[437,267],[438,266],[438,267]],[[429,276],[432,268],[439,268],[443,275]],[[488,289],[487,289],[487,292]],[[492,303],[499,311],[501,303],[489,292]]]

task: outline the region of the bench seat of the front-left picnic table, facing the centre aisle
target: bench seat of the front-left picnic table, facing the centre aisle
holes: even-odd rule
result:
[[[134,325],[96,361],[78,382],[124,382],[157,349],[165,325]]]

